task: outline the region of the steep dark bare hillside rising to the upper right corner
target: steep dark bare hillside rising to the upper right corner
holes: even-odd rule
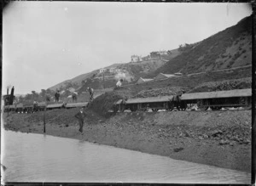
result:
[[[196,45],[188,45],[183,54],[169,60],[154,72],[148,73],[146,77],[154,77],[160,72],[189,74],[250,65],[252,63],[251,31],[252,16]]]

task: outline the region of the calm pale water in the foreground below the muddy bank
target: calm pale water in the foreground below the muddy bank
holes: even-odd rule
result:
[[[4,182],[250,183],[251,175],[128,149],[2,131]]]

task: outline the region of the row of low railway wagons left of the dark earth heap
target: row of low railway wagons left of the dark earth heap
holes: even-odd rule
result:
[[[42,110],[55,110],[55,109],[72,109],[77,107],[86,107],[88,102],[84,103],[71,103],[71,104],[46,104],[41,102],[38,104],[13,104],[4,106],[4,111],[15,111],[19,113],[32,113]]]

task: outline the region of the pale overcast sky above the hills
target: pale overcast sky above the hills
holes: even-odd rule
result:
[[[40,92],[131,55],[200,42],[252,14],[247,3],[15,1],[3,10],[3,93]]]

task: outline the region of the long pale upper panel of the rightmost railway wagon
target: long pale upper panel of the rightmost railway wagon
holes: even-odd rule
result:
[[[248,97],[252,96],[252,89],[236,89],[228,91],[216,91],[205,93],[184,93],[182,95],[183,100],[189,99],[214,99],[214,98],[229,98],[229,97]]]

